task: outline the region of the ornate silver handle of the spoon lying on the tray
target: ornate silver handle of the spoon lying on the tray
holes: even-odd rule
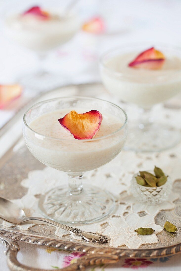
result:
[[[88,241],[88,242],[92,242],[92,243],[97,243],[97,244],[102,244],[102,243],[105,243],[107,242],[109,239],[107,236],[105,235],[100,235],[100,234],[96,234],[96,233],[89,233],[87,231],[81,231],[77,228],[72,228],[72,227],[69,227],[67,225],[63,225],[63,224],[60,224],[58,222],[55,222],[55,221],[52,221],[48,218],[42,218],[42,217],[29,217],[27,218],[26,220],[24,220],[23,222],[26,222],[26,221],[29,221],[29,220],[38,220],[38,221],[43,221],[43,222],[47,222],[49,224],[52,224],[54,226],[57,226],[57,227],[60,227],[64,230],[67,230],[69,231],[71,234],[74,234],[74,235],[79,235],[81,236],[84,240]],[[23,223],[22,222],[22,223]]]

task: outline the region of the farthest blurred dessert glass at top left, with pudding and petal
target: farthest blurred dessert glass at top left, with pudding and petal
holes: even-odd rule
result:
[[[45,10],[39,6],[9,15],[5,21],[7,36],[33,50],[41,61],[50,50],[71,40],[78,29],[79,18],[73,12]],[[24,76],[21,82],[36,88],[47,87],[47,84],[54,86],[60,83],[60,75],[53,75],[41,68],[37,74]]]

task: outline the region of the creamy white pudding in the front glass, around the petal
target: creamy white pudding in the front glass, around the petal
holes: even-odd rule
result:
[[[121,120],[101,112],[103,120],[97,135],[89,140],[77,140],[58,122],[72,109],[61,109],[43,114],[30,122],[25,141],[30,152],[42,163],[65,172],[86,172],[96,169],[120,153],[126,141]],[[78,113],[87,112],[84,108]],[[117,131],[117,133],[110,135]],[[125,134],[124,134],[125,133]],[[44,137],[42,135],[47,137]],[[51,137],[51,138],[50,138]]]

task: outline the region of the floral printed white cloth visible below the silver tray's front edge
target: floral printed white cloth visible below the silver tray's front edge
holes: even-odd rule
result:
[[[79,258],[84,257],[84,253],[66,252],[56,248],[45,248],[31,244],[18,242],[20,251],[18,252],[18,261],[34,268],[57,270],[75,263]],[[9,271],[6,264],[6,256],[4,254],[5,247],[0,244],[0,271]],[[88,271],[131,271],[146,270],[160,271],[180,271],[181,258],[180,255],[172,257],[161,257],[156,259],[146,258],[125,258],[122,257],[120,262],[111,265],[90,266]]]

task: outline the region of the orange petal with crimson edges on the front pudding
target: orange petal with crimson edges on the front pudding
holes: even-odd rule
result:
[[[74,138],[91,139],[100,129],[102,114],[97,110],[91,110],[83,114],[78,114],[73,110],[58,121],[65,130],[73,134]]]

